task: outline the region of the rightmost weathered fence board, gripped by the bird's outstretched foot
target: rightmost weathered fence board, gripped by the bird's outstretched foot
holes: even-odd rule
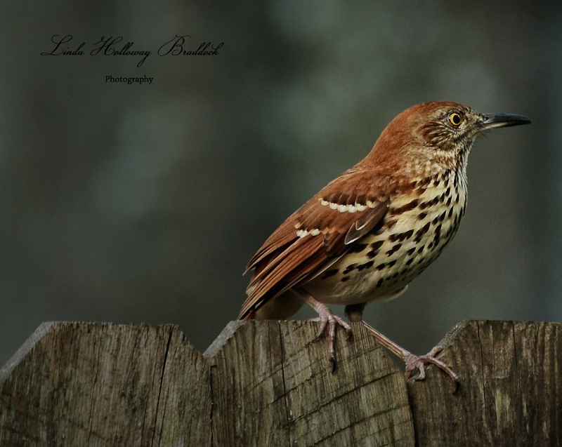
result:
[[[408,383],[418,446],[562,445],[561,323],[464,321],[443,345],[462,385]]]

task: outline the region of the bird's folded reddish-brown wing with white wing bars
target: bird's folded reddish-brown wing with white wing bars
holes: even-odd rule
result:
[[[353,175],[355,192],[349,194]],[[359,177],[359,178],[358,178]],[[254,269],[247,300],[238,314],[247,318],[268,300],[320,274],[377,227],[390,199],[381,183],[348,171],[293,213],[247,265]],[[388,182],[387,182],[388,184]]]

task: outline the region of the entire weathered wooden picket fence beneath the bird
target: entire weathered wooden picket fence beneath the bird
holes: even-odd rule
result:
[[[464,321],[424,382],[362,326],[332,375],[318,323],[44,323],[0,370],[0,446],[561,446],[562,324]]]

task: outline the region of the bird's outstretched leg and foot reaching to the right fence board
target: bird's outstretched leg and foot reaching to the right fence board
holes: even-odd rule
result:
[[[436,359],[435,357],[437,354],[441,352],[441,350],[443,350],[443,348],[440,347],[439,345],[431,349],[431,351],[428,352],[426,355],[417,356],[412,354],[410,351],[407,351],[400,345],[397,345],[390,338],[386,337],[386,335],[380,333],[379,331],[377,331],[377,329],[373,328],[369,323],[365,323],[365,321],[362,320],[361,323],[363,326],[365,326],[365,328],[367,328],[367,331],[369,331],[370,333],[372,333],[372,335],[374,335],[374,338],[376,338],[381,345],[383,345],[390,352],[392,352],[396,356],[403,359],[403,361],[405,361],[406,379],[412,377],[414,371],[418,370],[419,374],[416,377],[414,377],[414,380],[424,380],[426,378],[425,363],[433,363],[433,365],[437,366],[438,368],[440,368],[441,371],[449,375],[449,377],[452,378],[455,384],[458,384],[459,376],[455,374],[455,371],[452,371],[452,369],[449,366],[447,366],[446,363],[440,361],[439,359]]]

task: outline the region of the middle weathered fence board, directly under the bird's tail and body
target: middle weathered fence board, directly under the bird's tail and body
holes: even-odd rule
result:
[[[353,340],[339,331],[332,375],[316,331],[308,321],[227,327],[204,354],[213,363],[213,420],[230,421],[213,425],[214,445],[413,445],[403,375],[372,336],[360,324]]]

